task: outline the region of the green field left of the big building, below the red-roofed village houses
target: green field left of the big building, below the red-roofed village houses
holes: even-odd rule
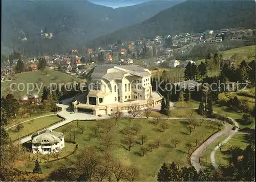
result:
[[[68,83],[68,82],[74,82],[74,81],[80,81],[83,82],[85,80],[81,80],[78,78],[75,78],[73,76],[70,76],[68,74],[54,71],[54,70],[47,70],[47,75],[41,73],[41,71],[35,71],[35,72],[24,72],[24,73],[19,73],[15,74],[14,77],[16,78],[15,80],[13,79],[12,81],[9,82],[2,82],[1,83],[1,97],[10,92],[10,86],[11,83],[16,83],[17,85],[19,83],[24,83],[25,87],[20,85],[20,89],[24,89],[22,92],[16,91],[14,94],[17,95],[24,95],[24,94],[30,94],[30,93],[38,93],[39,96],[42,94],[42,88],[44,86],[49,86],[50,83]],[[40,82],[39,82],[40,81]],[[28,83],[31,83],[30,85],[27,86]],[[37,83],[38,87],[42,85],[41,89],[38,90],[35,88],[33,91],[29,91],[27,93],[27,89],[32,89],[33,86]],[[14,89],[17,89],[17,85],[14,86]]]

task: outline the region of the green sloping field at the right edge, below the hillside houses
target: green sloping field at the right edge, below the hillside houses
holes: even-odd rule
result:
[[[236,49],[230,49],[227,51],[221,51],[221,53],[223,54],[223,59],[228,59],[233,54],[238,53],[241,55],[241,61],[239,61],[239,63],[242,62],[243,59],[245,61],[251,61],[254,59],[254,56],[255,56],[255,45],[245,46],[245,47],[236,48]],[[249,53],[254,56],[250,56],[248,58]],[[205,59],[197,60],[196,61],[197,65],[199,65],[202,61],[204,62]]]

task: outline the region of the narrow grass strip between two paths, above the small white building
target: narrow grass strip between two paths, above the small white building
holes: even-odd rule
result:
[[[35,119],[33,122],[29,121],[29,122],[23,123],[24,128],[22,129],[22,131],[20,131],[19,137],[22,138],[23,136],[29,133],[36,132],[60,120],[61,119],[58,118],[57,116],[48,116],[44,118]],[[9,130],[9,136],[12,141],[18,139],[18,132],[16,132],[15,130],[16,130],[16,127],[13,127]]]

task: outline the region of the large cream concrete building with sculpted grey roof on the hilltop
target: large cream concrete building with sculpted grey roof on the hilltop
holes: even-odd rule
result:
[[[152,91],[151,72],[139,65],[97,65],[88,73],[87,80],[86,103],[73,102],[75,112],[109,115],[116,107],[126,112],[136,104],[143,110],[148,100],[152,107],[162,100],[158,92]]]

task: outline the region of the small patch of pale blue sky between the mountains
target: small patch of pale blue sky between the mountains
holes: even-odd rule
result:
[[[123,6],[137,5],[140,3],[147,2],[148,0],[139,0],[139,1],[138,0],[89,0],[89,1],[97,5],[118,8]]]

